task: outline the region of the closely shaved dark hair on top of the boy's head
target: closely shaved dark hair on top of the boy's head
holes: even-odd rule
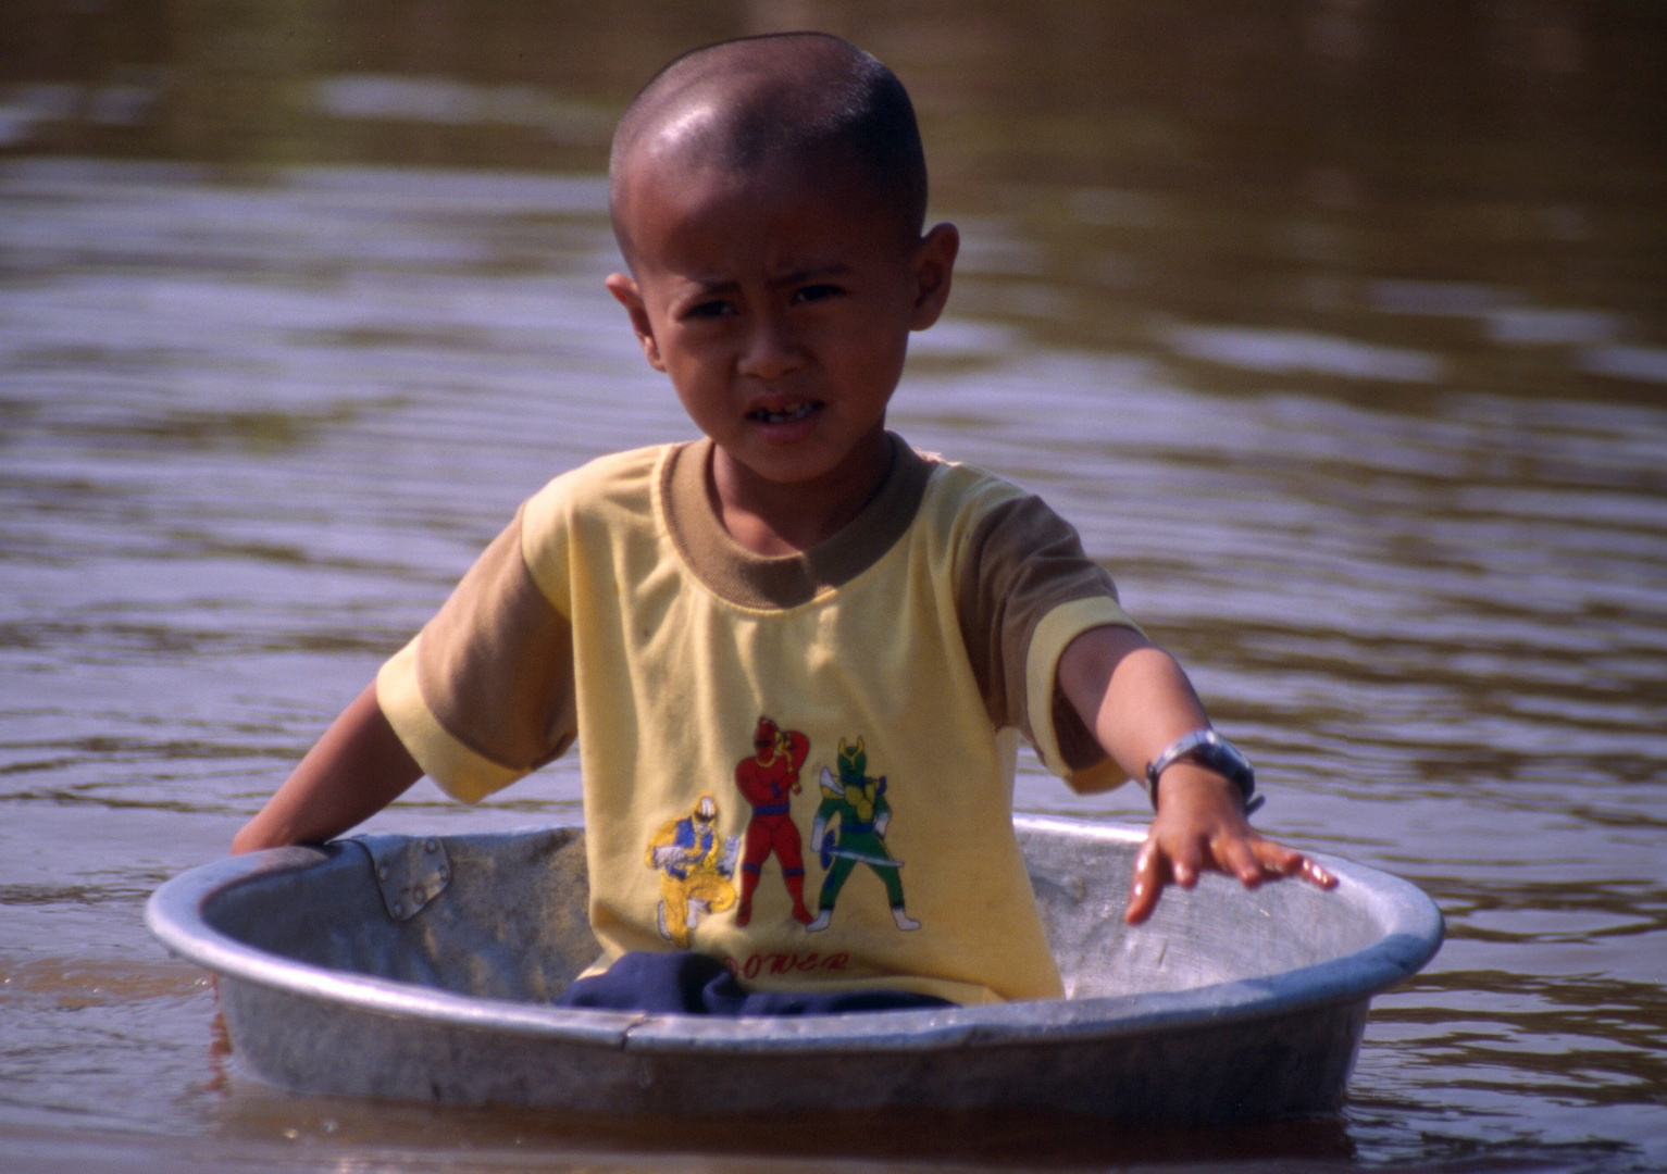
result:
[[[879,60],[827,33],[697,48],[642,88],[608,160],[608,211],[627,261],[627,180],[645,158],[730,172],[855,167],[907,240],[925,225],[927,163],[909,92]]]

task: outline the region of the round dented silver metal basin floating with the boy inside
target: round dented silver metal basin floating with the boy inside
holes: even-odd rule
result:
[[[1207,876],[1130,929],[1139,831],[1015,828],[1065,999],[802,1019],[545,1006],[598,953],[582,828],[237,856],[163,884],[145,921],[218,976],[237,1061],[262,1081],[628,1114],[1329,1112],[1370,996],[1440,946],[1424,893],[1330,858],[1332,893]]]

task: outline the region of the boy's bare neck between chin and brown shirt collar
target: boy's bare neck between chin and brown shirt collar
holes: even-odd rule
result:
[[[885,483],[895,458],[884,428],[810,481],[768,481],[712,448],[707,490],[735,543],[765,558],[800,555],[844,530]]]

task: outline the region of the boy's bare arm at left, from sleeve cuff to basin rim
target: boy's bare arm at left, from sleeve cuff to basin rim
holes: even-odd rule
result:
[[[232,839],[232,853],[322,844],[363,823],[422,778],[377,704],[372,681]]]

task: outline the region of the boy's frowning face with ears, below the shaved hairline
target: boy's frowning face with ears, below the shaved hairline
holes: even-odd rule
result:
[[[902,240],[835,168],[628,168],[633,276],[608,290],[695,425],[773,483],[872,465],[909,331],[949,296],[955,230]]]

